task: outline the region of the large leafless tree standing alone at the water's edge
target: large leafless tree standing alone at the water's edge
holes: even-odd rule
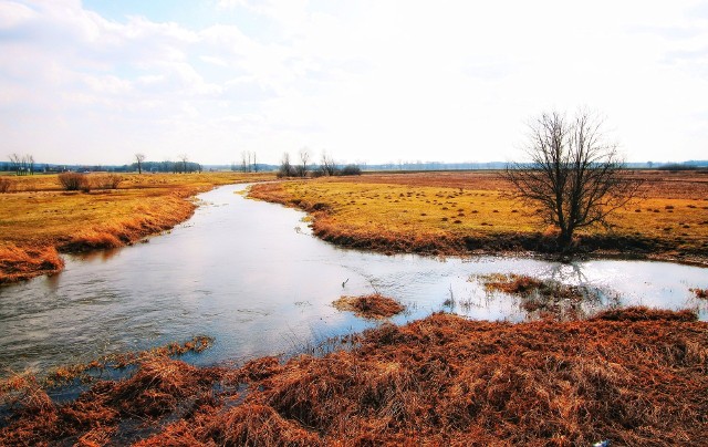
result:
[[[563,251],[576,229],[607,226],[607,216],[636,197],[641,185],[624,175],[617,146],[606,142],[601,127],[602,121],[585,111],[571,121],[543,113],[530,125],[530,163],[507,165],[516,197],[541,208],[543,220],[559,229]]]

